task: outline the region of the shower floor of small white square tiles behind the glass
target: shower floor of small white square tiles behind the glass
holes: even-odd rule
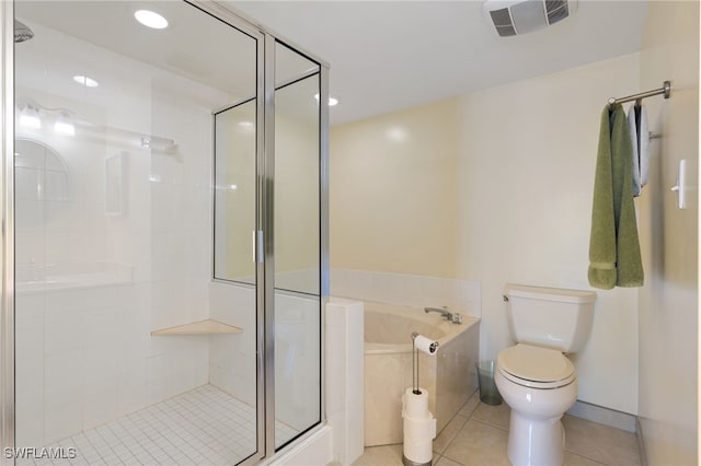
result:
[[[275,429],[277,438],[297,434],[281,422]],[[16,464],[233,465],[254,452],[255,436],[251,406],[203,385],[47,446],[64,458],[24,458]],[[69,448],[74,448],[74,458]]]

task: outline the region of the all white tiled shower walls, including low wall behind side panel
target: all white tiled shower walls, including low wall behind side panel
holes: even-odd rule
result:
[[[48,123],[16,125],[19,138],[53,148],[67,167],[60,196],[19,178],[25,184],[16,203],[18,446],[51,444],[210,381],[253,405],[254,292],[211,283],[211,108],[230,96],[31,27],[35,37],[24,45],[37,55],[32,63],[18,55],[20,74],[50,69],[53,54],[76,49],[87,69],[110,70],[119,85],[104,82],[76,97],[50,72],[18,79],[18,96],[70,108],[84,121],[73,137]],[[108,171],[108,161],[120,174]],[[44,163],[33,173],[43,179]],[[107,193],[116,186],[123,195],[115,205]],[[290,273],[278,278],[297,282]],[[276,378],[287,388],[278,393],[278,419],[307,427],[313,419],[300,400],[317,399],[320,409],[319,300],[283,293],[276,306]],[[207,317],[243,333],[150,335]]]

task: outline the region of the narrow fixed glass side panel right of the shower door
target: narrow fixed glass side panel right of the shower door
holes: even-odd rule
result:
[[[277,44],[278,67],[281,59],[300,73],[319,69],[291,54]],[[275,93],[276,447],[321,420],[318,93],[319,73]]]

